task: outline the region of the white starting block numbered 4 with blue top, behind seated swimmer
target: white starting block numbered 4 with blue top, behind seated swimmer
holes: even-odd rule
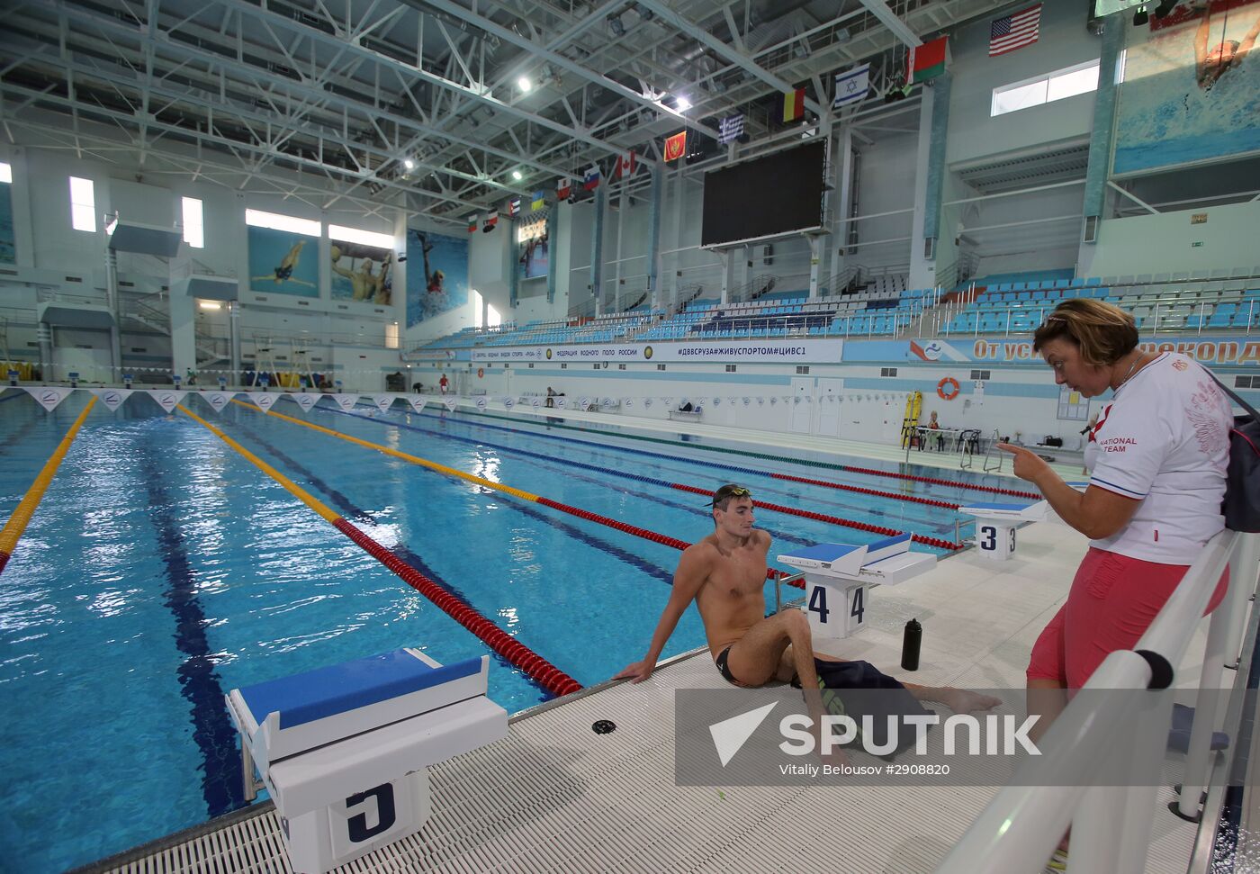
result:
[[[872,586],[896,586],[930,570],[931,553],[910,552],[910,534],[852,547],[820,543],[779,557],[805,572],[805,615],[815,637],[848,637],[866,627]]]

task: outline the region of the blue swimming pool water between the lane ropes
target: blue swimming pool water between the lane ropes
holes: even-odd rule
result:
[[[53,413],[25,394],[0,398],[4,519],[86,398],[74,393]],[[252,407],[217,414],[195,395],[186,406],[578,683],[643,657],[677,549]],[[983,494],[771,462],[697,440],[634,440],[616,427],[399,407],[341,413],[320,404],[304,414],[282,399],[275,409],[687,542],[712,531],[704,497],[624,474],[708,490],[736,481],[760,500],[946,540],[950,510],[721,465],[954,501]],[[757,519],[775,538],[771,560],[780,548],[879,536],[765,510]],[[692,607],[663,657],[703,642]],[[145,395],[88,414],[0,574],[0,868],[32,874],[241,806],[239,749],[223,703],[236,686],[401,646],[441,662],[490,652],[207,428]],[[490,656],[490,698],[508,712],[551,698]]]

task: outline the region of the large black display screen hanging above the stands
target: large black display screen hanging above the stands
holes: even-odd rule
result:
[[[819,141],[704,174],[701,244],[819,227],[825,164]]]

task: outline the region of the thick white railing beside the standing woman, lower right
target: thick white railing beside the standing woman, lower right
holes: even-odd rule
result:
[[[1168,688],[1186,657],[1200,617],[1221,572],[1228,564],[1230,591],[1208,626],[1189,753],[1179,810],[1198,811],[1207,783],[1216,700],[1225,664],[1237,659],[1247,598],[1256,588],[1260,534],[1221,531],[1191,565],[1181,584],[1133,650],[1119,650],[1085,684],[1085,689]],[[1160,678],[1160,675],[1164,675]],[[1245,671],[1240,666],[1240,684]],[[1155,698],[1155,696],[1153,696]],[[1077,696],[1038,742],[1041,756],[1028,758],[971,824],[936,869],[936,874],[1018,874],[1041,871],[1060,839],[1072,830],[1070,874],[1137,874],[1145,870],[1158,786],[1149,778],[1129,786],[1092,786],[1101,766],[1116,761],[1131,775],[1149,775],[1166,757],[1172,699],[1152,712],[1133,713],[1126,695]],[[1155,730],[1134,733],[1135,719]],[[1138,741],[1140,737],[1143,741]],[[1237,752],[1237,751],[1234,751]],[[1162,811],[1160,811],[1162,812]],[[1191,848],[1187,848],[1187,859]]]

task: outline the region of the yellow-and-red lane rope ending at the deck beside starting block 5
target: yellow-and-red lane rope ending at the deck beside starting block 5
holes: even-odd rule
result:
[[[253,407],[253,404],[246,406]],[[257,408],[255,407],[255,409]],[[420,570],[403,562],[401,558],[389,552],[389,549],[352,525],[344,518],[338,515],[330,506],[302,490],[287,476],[277,471],[246,447],[241,446],[237,441],[228,437],[219,428],[214,427],[197,413],[189,412],[183,406],[179,407],[179,411],[193,421],[199,422],[210,433],[244,456],[249,463],[278,482],[287,492],[319,514],[325,521],[333,525],[336,530],[341,531],[341,534],[354,540],[354,543],[365,553],[372,555],[372,558],[377,559],[394,572],[404,583],[423,594],[442,612],[480,637],[486,646],[519,667],[524,674],[537,680],[549,691],[556,695],[567,695],[568,693],[577,691],[582,688],[577,680],[556,667],[556,665],[543,659],[517,638],[504,632],[494,625],[494,622],[490,622],[490,620],[481,616],[481,613],[476,610],[462,603],[442,586],[438,586]]]

